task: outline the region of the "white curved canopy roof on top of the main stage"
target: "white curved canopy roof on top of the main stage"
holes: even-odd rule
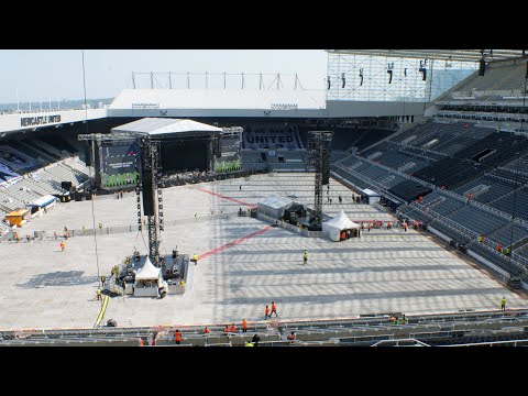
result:
[[[216,135],[220,134],[222,129],[187,119],[144,118],[112,128],[111,131],[130,135],[146,134],[151,138],[186,138]]]

